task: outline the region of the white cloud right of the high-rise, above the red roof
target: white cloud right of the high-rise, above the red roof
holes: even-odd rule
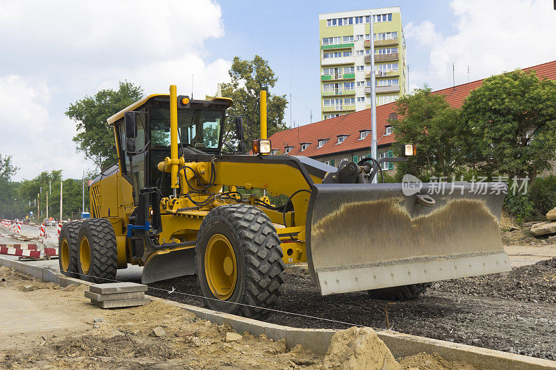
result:
[[[407,39],[430,49],[427,69],[410,72],[411,83],[434,89],[555,59],[556,12],[549,0],[452,0],[455,35],[441,35],[430,21],[408,24]],[[410,56],[411,58],[411,56]]]

